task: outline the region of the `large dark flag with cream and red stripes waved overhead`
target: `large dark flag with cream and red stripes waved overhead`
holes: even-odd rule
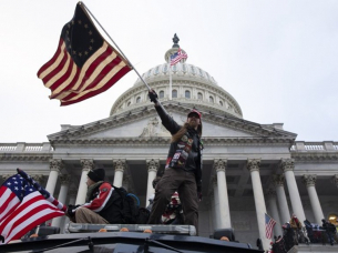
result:
[[[78,103],[110,89],[132,68],[96,30],[83,4],[61,32],[54,57],[40,68],[38,78],[61,105]]]

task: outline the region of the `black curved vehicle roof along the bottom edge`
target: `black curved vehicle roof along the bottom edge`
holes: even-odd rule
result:
[[[90,250],[89,244],[93,245],[92,250]],[[55,249],[43,251],[51,247]],[[171,247],[178,250],[176,252],[190,253],[263,252],[250,249],[250,245],[245,243],[201,236],[141,232],[54,234],[1,245],[0,252],[175,252]]]

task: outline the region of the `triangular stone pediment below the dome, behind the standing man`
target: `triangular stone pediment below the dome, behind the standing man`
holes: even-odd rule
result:
[[[183,104],[165,104],[167,112],[178,124],[186,121],[191,110]],[[216,114],[212,111],[202,111],[203,136],[209,140],[244,140],[253,141],[267,139],[288,140],[296,139],[295,133],[280,129],[280,124],[258,124],[229,115]],[[162,125],[154,107],[139,108],[125,114],[113,115],[84,125],[63,125],[63,130],[48,135],[51,143],[65,141],[113,140],[113,139],[168,139],[171,134]]]

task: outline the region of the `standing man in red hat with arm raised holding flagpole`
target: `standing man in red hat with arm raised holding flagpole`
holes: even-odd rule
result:
[[[202,200],[202,114],[192,110],[186,122],[180,125],[161,107],[154,90],[148,92],[155,103],[162,124],[172,134],[163,176],[155,188],[155,199],[148,224],[160,224],[160,219],[175,191],[178,192],[184,213],[184,224],[198,231],[198,200]]]

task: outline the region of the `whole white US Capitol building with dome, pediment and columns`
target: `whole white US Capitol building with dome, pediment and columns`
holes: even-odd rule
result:
[[[338,217],[338,142],[295,141],[283,123],[243,119],[239,104],[207,71],[182,60],[165,62],[143,74],[177,123],[193,108],[203,122],[203,201],[199,235],[234,227],[236,240],[256,245],[263,239],[265,213],[277,221],[274,233],[295,213],[300,221],[321,224]],[[185,52],[182,49],[183,52]],[[170,93],[172,93],[170,95]],[[110,115],[83,125],[61,125],[43,143],[0,143],[0,183],[20,168],[59,201],[84,203],[86,174],[104,168],[106,180],[125,186],[146,206],[152,181],[165,165],[171,135],[161,124],[147,89],[139,79],[113,104]],[[64,227],[65,217],[52,225]],[[336,223],[336,225],[338,225]]]

